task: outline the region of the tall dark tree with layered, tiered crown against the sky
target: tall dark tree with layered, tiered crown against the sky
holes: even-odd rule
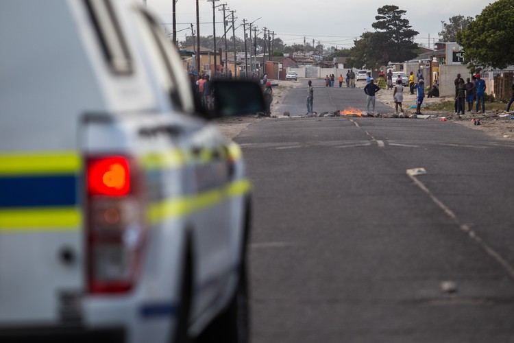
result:
[[[408,19],[404,19],[406,11],[395,5],[385,5],[377,10],[376,22],[371,26],[375,32],[365,32],[352,47],[352,63],[378,67],[387,62],[403,62],[416,55],[418,45],[413,38],[419,32],[411,29]]]

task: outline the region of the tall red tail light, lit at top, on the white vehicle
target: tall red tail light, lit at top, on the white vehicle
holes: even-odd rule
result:
[[[142,181],[126,156],[86,160],[90,293],[128,292],[138,279],[146,233]]]

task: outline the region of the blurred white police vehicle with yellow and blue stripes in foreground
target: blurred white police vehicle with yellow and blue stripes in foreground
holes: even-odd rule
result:
[[[263,108],[129,1],[0,2],[0,342],[247,342],[249,181],[208,117]]]

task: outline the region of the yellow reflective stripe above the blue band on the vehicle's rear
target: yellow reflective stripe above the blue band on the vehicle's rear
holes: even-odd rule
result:
[[[76,152],[0,155],[0,175],[73,174],[82,167]]]

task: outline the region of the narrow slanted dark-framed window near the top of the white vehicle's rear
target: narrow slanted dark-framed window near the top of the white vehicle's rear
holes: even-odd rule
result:
[[[117,74],[132,73],[132,59],[110,1],[85,0],[85,3],[111,71]]]

